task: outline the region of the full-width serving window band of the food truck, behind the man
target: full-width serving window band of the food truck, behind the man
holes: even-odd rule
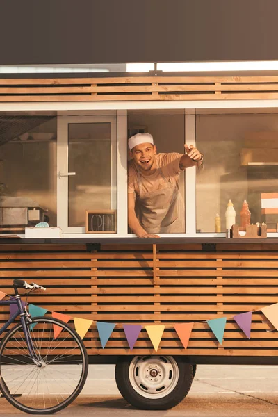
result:
[[[161,236],[224,236],[229,199],[237,224],[246,199],[251,222],[277,231],[277,116],[276,108],[1,112],[0,232],[47,221],[65,237],[133,236],[127,140],[145,132],[158,153],[183,154],[187,143],[204,154],[204,170],[179,175],[185,230]]]

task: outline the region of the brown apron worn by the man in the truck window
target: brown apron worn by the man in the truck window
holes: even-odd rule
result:
[[[139,195],[136,195],[136,215],[147,233],[184,233],[184,202],[178,186],[164,177],[161,167],[159,174],[166,187],[161,190],[144,192],[140,170],[138,174]]]

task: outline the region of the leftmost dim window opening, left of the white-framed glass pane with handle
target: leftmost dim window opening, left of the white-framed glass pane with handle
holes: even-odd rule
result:
[[[56,113],[0,113],[0,233],[57,225]]]

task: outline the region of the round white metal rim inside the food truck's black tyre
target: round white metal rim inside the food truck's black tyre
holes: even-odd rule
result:
[[[177,385],[179,368],[173,357],[134,357],[129,366],[133,389],[145,398],[158,399]]]

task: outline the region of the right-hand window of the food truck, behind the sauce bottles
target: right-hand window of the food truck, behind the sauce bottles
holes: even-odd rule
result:
[[[265,222],[268,231],[277,231],[277,112],[229,109],[196,113],[196,143],[205,155],[204,174],[196,177],[197,233],[214,233],[217,213],[225,232],[229,199],[236,210],[236,224],[240,224],[246,199],[251,222]]]

